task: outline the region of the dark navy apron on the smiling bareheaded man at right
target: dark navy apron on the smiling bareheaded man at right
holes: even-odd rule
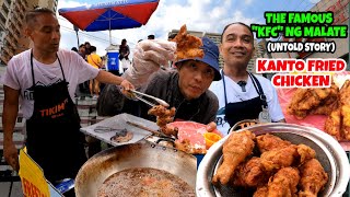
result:
[[[266,96],[258,79],[256,79],[256,77],[249,72],[248,74],[253,81],[256,92],[258,93],[258,96],[237,103],[228,103],[225,79],[223,71],[221,70],[225,96],[225,120],[230,124],[230,127],[233,127],[237,121],[243,119],[257,119],[260,112],[264,111],[264,108],[267,108]]]

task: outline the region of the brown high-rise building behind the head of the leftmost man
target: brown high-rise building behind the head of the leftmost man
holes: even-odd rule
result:
[[[7,65],[16,54],[30,48],[24,35],[24,16],[27,10],[45,7],[57,10],[58,0],[0,0],[0,65]]]

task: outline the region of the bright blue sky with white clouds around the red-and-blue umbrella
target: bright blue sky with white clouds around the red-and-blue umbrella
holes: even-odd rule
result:
[[[59,0],[58,9],[74,8],[98,2],[113,2],[114,0]],[[168,32],[178,30],[186,24],[188,31],[199,31],[221,34],[223,27],[232,22],[246,24],[265,24],[265,11],[307,11],[319,0],[160,0],[158,9],[149,22],[131,30],[112,31],[112,43],[120,44],[122,38],[135,48],[139,39],[154,34],[158,39],[166,39]],[[61,25],[61,48],[77,47],[78,38],[73,25],[65,18],[58,15]],[[109,46],[109,33],[78,32],[80,44],[90,42],[96,46],[97,54],[104,56]]]

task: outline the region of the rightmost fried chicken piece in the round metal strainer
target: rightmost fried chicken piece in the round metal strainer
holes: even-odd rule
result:
[[[300,197],[317,197],[328,182],[328,174],[316,159],[308,160],[300,167]]]

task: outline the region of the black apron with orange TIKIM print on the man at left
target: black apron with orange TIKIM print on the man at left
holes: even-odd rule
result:
[[[51,183],[74,178],[86,161],[78,109],[69,95],[61,62],[57,59],[63,81],[48,86],[35,85],[33,51],[31,54],[34,111],[26,121],[28,154]]]

